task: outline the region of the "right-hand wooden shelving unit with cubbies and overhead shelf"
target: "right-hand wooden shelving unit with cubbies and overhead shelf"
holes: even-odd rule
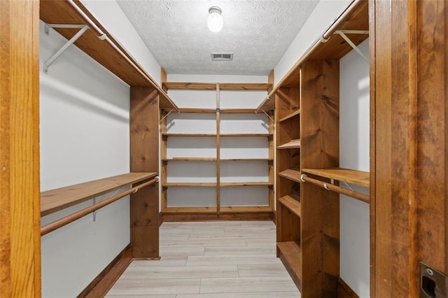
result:
[[[339,59],[352,48],[333,34],[358,30],[346,31],[358,45],[368,29],[368,1],[353,1],[323,34],[328,42],[318,38],[257,108],[276,112],[277,256],[302,297],[337,297],[339,194],[323,187],[369,187],[369,173],[338,168]],[[325,181],[303,183],[302,173]]]

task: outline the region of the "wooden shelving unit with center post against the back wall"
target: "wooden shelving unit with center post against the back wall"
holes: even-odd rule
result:
[[[267,219],[272,218],[272,213],[274,210],[274,123],[272,120],[268,119],[269,128],[267,132],[255,133],[255,132],[244,132],[244,129],[239,130],[237,133],[223,133],[220,129],[220,123],[223,119],[221,114],[255,114],[254,108],[219,108],[219,92],[221,90],[268,90],[272,87],[272,84],[212,84],[212,83],[163,83],[165,90],[176,89],[176,90],[216,90],[217,99],[215,109],[210,108],[181,108],[181,113],[216,113],[216,133],[215,134],[177,134],[170,133],[167,129],[167,118],[165,115],[169,111],[162,111],[162,122],[161,122],[161,135],[162,135],[162,214],[164,220],[203,220],[204,213],[207,213],[206,219]],[[190,116],[189,116],[190,117]],[[247,131],[247,130],[246,130]],[[216,138],[216,157],[170,157],[167,158],[167,140],[172,137],[186,137],[186,136],[196,136],[196,137],[213,137]],[[269,152],[267,157],[264,158],[251,158],[251,157],[226,157],[221,156],[221,146],[225,141],[232,141],[232,138],[250,138],[258,139],[265,138],[268,142]],[[209,144],[211,145],[211,144]],[[167,183],[167,176],[169,171],[169,164],[176,161],[185,162],[216,162],[216,183]],[[228,168],[230,165],[235,168],[241,166],[241,162],[265,162],[267,164],[267,176],[269,176],[269,181],[228,181],[223,182],[221,180],[221,172],[223,167]],[[231,163],[231,164],[230,164]],[[216,206],[212,208],[207,206],[190,207],[190,206],[169,206],[168,201],[168,190],[169,187],[216,187]],[[232,187],[234,188],[232,190]],[[225,206],[222,203],[221,190],[226,190],[233,192],[238,190],[239,187],[267,187],[268,190],[268,202],[267,206]],[[230,204],[230,201],[226,201],[226,205]],[[214,217],[211,217],[214,213]],[[256,214],[255,214],[256,213]],[[185,216],[183,216],[185,215]],[[204,215],[204,216],[202,216]],[[183,216],[183,217],[181,217]]]

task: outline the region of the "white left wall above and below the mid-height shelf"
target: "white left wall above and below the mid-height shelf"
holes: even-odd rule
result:
[[[129,86],[75,46],[43,73],[66,39],[53,30],[46,36],[42,22],[40,34],[41,191],[129,172]],[[87,215],[43,236],[43,297],[76,297],[130,243],[129,227],[127,197],[97,211],[95,222]]]

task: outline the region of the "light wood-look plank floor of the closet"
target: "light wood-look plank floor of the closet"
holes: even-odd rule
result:
[[[107,297],[300,297],[272,222],[164,222],[159,261],[134,261]]]

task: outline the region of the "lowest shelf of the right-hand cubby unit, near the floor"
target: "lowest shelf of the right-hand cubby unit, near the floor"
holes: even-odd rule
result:
[[[285,265],[297,288],[302,291],[302,253],[296,241],[277,242],[279,258]]]

